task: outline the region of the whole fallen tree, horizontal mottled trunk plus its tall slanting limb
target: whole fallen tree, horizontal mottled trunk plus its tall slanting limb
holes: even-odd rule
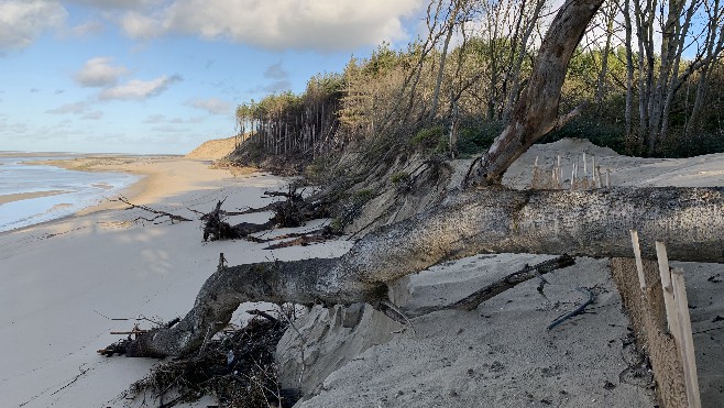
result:
[[[127,344],[127,354],[193,351],[248,301],[368,302],[399,319],[387,289],[408,274],[478,253],[629,256],[629,229],[644,238],[646,257],[654,256],[654,241],[665,241],[671,260],[724,263],[724,188],[519,191],[501,185],[517,157],[572,114],[559,117],[561,85],[602,2],[566,1],[507,126],[473,163],[463,186],[437,208],[369,233],[340,257],[238,266],[221,262],[183,319],[140,334]]]

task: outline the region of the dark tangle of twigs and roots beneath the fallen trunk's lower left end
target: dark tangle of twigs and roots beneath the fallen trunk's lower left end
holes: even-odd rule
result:
[[[155,366],[131,385],[127,400],[151,397],[173,407],[212,396],[224,407],[292,407],[299,394],[281,388],[274,362],[276,344],[288,323],[267,311],[250,313],[254,317],[244,327],[220,332],[202,350]]]

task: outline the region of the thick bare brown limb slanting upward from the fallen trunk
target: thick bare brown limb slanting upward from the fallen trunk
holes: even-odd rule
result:
[[[585,27],[603,0],[569,0],[553,19],[534,64],[527,89],[513,115],[476,164],[469,172],[474,185],[497,185],[503,174],[538,139],[561,123],[558,121],[560,90],[568,63]]]

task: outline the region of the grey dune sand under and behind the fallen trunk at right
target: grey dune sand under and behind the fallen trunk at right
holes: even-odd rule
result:
[[[514,164],[505,183],[529,184],[536,157],[552,167],[561,156],[570,178],[582,153],[611,169],[614,186],[724,186],[724,155],[689,159],[641,159],[617,155],[586,141],[563,140],[531,147]],[[467,163],[457,164],[467,169]],[[633,256],[633,251],[632,251]],[[408,307],[454,301],[525,264],[548,258],[526,254],[479,255],[438,265],[401,283]],[[687,264],[702,401],[724,406],[723,283],[707,280],[724,266]],[[300,407],[652,407],[650,373],[630,343],[628,319],[606,260],[579,258],[577,265],[546,276],[547,299],[528,282],[481,305],[473,312],[441,311],[414,319],[417,333],[381,341],[356,356],[317,388]],[[715,279],[714,279],[715,280]],[[577,287],[597,294],[590,313],[548,331],[557,317],[584,299]],[[398,289],[399,291],[399,289]],[[404,290],[403,290],[404,291]],[[718,295],[718,296],[717,296]],[[404,296],[403,296],[404,297]],[[330,323],[331,326],[331,323]],[[718,328],[718,329],[716,329]],[[721,330],[720,330],[721,329]],[[354,341],[363,337],[354,333]],[[323,339],[310,335],[310,348]],[[330,351],[333,353],[333,351]],[[289,352],[289,354],[293,354]],[[289,359],[289,356],[285,356]],[[308,368],[314,372],[314,367]]]

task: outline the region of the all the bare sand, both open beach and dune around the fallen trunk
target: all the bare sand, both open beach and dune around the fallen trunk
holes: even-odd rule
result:
[[[506,183],[525,185],[536,156],[552,165],[559,154],[563,161],[573,161],[582,152],[596,155],[601,166],[611,169],[613,185],[724,185],[724,155],[640,159],[578,141],[534,146],[511,168]],[[285,183],[263,173],[233,177],[210,169],[208,162],[186,158],[113,158],[92,167],[146,175],[124,192],[132,202],[194,219],[198,216],[193,210],[206,212],[221,199],[227,199],[228,209],[263,206],[270,199],[262,198],[262,192]],[[125,210],[122,203],[106,202],[70,218],[0,233],[2,406],[139,405],[127,401],[123,393],[156,362],[99,356],[98,349],[119,339],[111,331],[130,330],[136,322],[149,328],[150,321],[186,313],[216,269],[219,253],[234,265],[338,256],[351,245],[340,240],[263,251],[263,244],[246,241],[204,244],[199,222],[134,222],[145,216],[141,210]],[[259,222],[267,214],[244,217]],[[401,282],[398,301],[414,308],[454,300],[471,288],[549,257],[479,255],[438,265]],[[689,299],[695,306],[693,330],[701,332],[694,340],[702,400],[705,407],[717,407],[724,403],[724,330],[713,321],[724,316],[724,299],[718,296],[718,285],[724,284],[709,278],[724,268],[683,267]],[[547,298],[536,293],[536,282],[529,282],[472,312],[440,311],[416,318],[415,333],[391,334],[395,328],[387,326],[376,331],[364,324],[340,329],[355,348],[340,346],[339,330],[321,338],[310,335],[305,346],[337,359],[339,370],[336,366],[329,376],[318,378],[317,396],[301,406],[652,407],[646,373],[637,376],[634,372],[640,362],[630,345],[628,320],[607,261],[580,258],[575,266],[548,276]],[[592,310],[546,331],[552,319],[581,301],[577,286],[597,288]],[[327,315],[331,311],[315,309],[314,313],[334,319]],[[243,311],[237,315],[234,322]],[[363,321],[372,324],[375,319]],[[299,327],[307,328],[304,322]],[[296,356],[287,357],[293,365]]]

